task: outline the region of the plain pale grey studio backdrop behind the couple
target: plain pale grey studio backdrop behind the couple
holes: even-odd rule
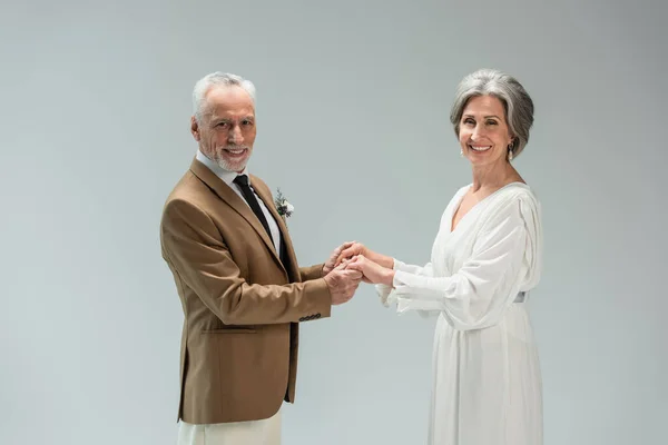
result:
[[[546,444],[662,443],[667,18],[659,0],[4,1],[0,443],[176,442],[158,225],[197,79],[256,83],[250,168],[296,207],[304,265],[348,239],[423,264],[471,179],[454,88],[483,67],[537,107],[515,164],[543,205]],[[369,286],[304,324],[284,443],[424,443],[433,328]]]

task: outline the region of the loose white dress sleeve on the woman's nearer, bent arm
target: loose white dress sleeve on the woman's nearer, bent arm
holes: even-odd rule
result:
[[[530,244],[521,202],[499,209],[478,235],[471,257],[449,277],[396,270],[397,312],[442,313],[461,330],[492,326],[501,319],[521,286],[525,250]]]

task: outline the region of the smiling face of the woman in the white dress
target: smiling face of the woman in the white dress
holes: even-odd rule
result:
[[[501,100],[478,96],[469,100],[460,120],[460,145],[473,166],[505,162],[512,135]]]

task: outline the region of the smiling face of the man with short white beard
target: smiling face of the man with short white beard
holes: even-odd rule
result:
[[[255,142],[255,107],[240,87],[213,87],[205,96],[202,119],[193,117],[190,131],[200,151],[228,171],[240,172]]]

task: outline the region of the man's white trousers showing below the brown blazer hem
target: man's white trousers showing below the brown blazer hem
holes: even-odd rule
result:
[[[180,421],[178,445],[281,445],[281,409],[262,421],[207,425]]]

